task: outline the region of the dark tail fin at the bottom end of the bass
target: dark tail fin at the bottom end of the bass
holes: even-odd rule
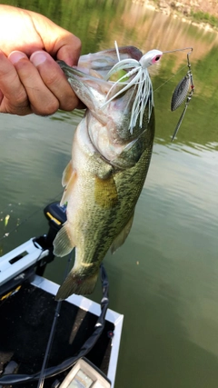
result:
[[[73,293],[93,293],[97,278],[98,272],[92,276],[83,276],[72,270],[64,280],[64,283],[60,286],[55,296],[55,300],[66,299]]]

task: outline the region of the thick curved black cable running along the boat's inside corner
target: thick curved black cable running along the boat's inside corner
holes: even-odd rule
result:
[[[104,265],[101,264],[101,280],[102,280],[102,290],[103,290],[103,297],[101,300],[101,313],[97,319],[97,322],[94,325],[94,333],[85,341],[83,347],[81,348],[80,352],[70,357],[66,360],[64,360],[63,363],[59,363],[56,366],[51,366],[50,368],[45,369],[45,378],[47,377],[53,377],[56,374],[62,373],[65,370],[69,369],[78,361],[79,358],[84,357],[87,353],[91,351],[91,349],[94,347],[94,344],[99,339],[100,335],[103,333],[104,330],[104,324],[105,324],[105,315],[109,303],[108,299],[108,290],[109,290],[109,282],[107,278],[106,271],[104,269]],[[40,378],[39,373],[35,373],[32,375],[29,374],[7,374],[0,378],[0,383],[5,385],[13,385],[15,383],[26,383],[26,382],[33,382],[37,381]]]

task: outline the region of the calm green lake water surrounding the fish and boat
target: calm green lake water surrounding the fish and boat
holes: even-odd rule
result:
[[[154,154],[134,225],[107,254],[110,307],[124,313],[115,388],[217,388],[218,385],[218,35],[131,1],[4,2],[35,10],[82,40],[83,54],[118,45],[144,53],[192,46],[195,91],[170,110],[187,71],[185,52],[153,69]],[[74,129],[83,112],[50,117],[0,114],[0,252],[43,234],[43,207],[62,193]],[[10,218],[7,226],[5,216]],[[21,224],[13,232],[16,224]],[[45,275],[62,282],[65,259]],[[101,298],[100,283],[92,295]]]

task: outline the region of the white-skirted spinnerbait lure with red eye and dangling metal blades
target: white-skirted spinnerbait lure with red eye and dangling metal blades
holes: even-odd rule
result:
[[[126,71],[126,74],[121,76],[116,82],[114,82],[108,94],[106,95],[106,101],[102,107],[104,107],[106,104],[109,104],[112,100],[114,100],[114,98],[124,93],[127,89],[129,89],[133,85],[134,85],[134,90],[135,90],[135,87],[137,86],[137,92],[134,99],[134,104],[133,104],[132,114],[131,114],[131,119],[129,124],[129,130],[131,134],[133,134],[134,126],[137,122],[138,117],[139,117],[139,126],[142,127],[144,109],[146,104],[149,104],[148,120],[150,119],[152,108],[154,106],[153,85],[147,70],[148,67],[159,62],[163,54],[170,54],[176,51],[190,50],[189,53],[187,54],[188,72],[183,77],[182,81],[180,81],[180,83],[175,87],[175,90],[172,96],[172,101],[171,101],[171,110],[174,111],[181,104],[183,104],[183,101],[185,100],[188,94],[189,88],[191,86],[191,90],[189,92],[189,95],[187,96],[185,106],[183,108],[183,113],[180,116],[180,119],[178,121],[178,124],[175,127],[175,130],[172,136],[172,141],[173,141],[174,137],[179,131],[179,128],[183,122],[184,114],[193,96],[193,90],[194,90],[193,74],[191,71],[191,64],[189,60],[189,55],[192,53],[193,48],[186,47],[182,49],[176,49],[176,50],[164,51],[164,52],[154,49],[145,53],[142,56],[142,58],[139,61],[137,61],[136,59],[133,59],[133,58],[120,60],[118,46],[116,42],[114,44],[115,44],[118,62],[108,72],[106,76],[106,80],[109,80],[112,75],[114,75],[115,73],[121,70]],[[130,70],[128,71],[128,69]],[[129,79],[128,82],[125,82],[126,78],[130,78],[130,77],[132,77],[132,79]],[[113,94],[114,88],[117,85],[122,85],[123,87],[118,92]],[[133,90],[133,94],[134,94],[134,90]],[[150,96],[151,98],[149,98]]]

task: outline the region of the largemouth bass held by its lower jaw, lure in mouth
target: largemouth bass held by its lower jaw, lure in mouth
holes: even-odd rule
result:
[[[146,55],[127,46],[84,55],[77,68],[59,63],[87,109],[63,174],[67,221],[54,239],[54,254],[64,256],[75,247],[75,261],[56,299],[92,293],[105,254],[124,244],[133,224],[154,143],[147,67],[162,53]],[[121,70],[124,75],[111,81]]]

